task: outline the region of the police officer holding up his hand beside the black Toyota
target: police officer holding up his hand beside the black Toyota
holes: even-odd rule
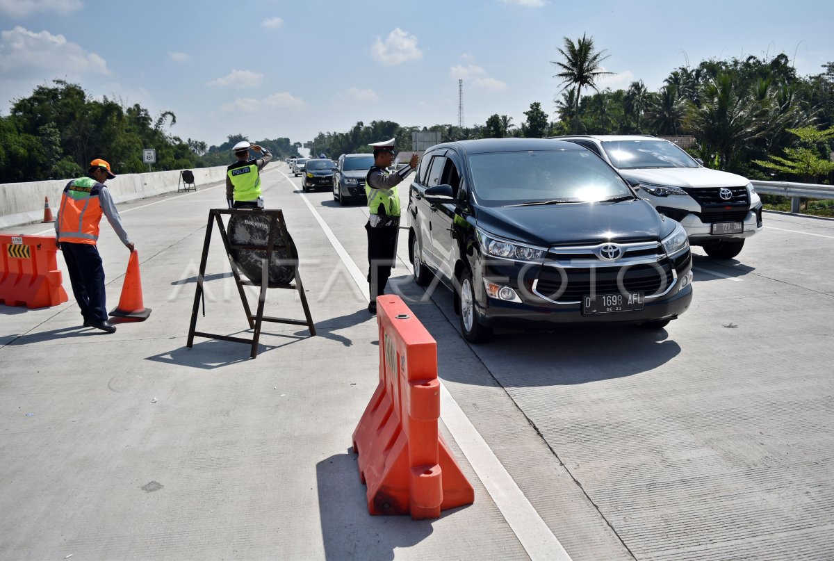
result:
[[[376,297],[384,294],[397,255],[399,230],[399,191],[397,185],[417,168],[417,154],[411,154],[408,165],[389,174],[394,161],[394,139],[369,144],[374,147],[374,167],[365,177],[370,217],[368,230],[368,282],[370,303],[368,311],[376,313]]]

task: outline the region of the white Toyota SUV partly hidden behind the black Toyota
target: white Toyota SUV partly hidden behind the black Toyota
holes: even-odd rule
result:
[[[642,134],[554,137],[580,144],[620,172],[661,215],[677,220],[690,245],[714,259],[739,254],[761,230],[761,200],[741,175],[705,168],[665,139]]]

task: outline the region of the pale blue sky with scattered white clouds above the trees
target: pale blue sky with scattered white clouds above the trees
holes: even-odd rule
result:
[[[656,91],[704,59],[786,53],[819,74],[832,24],[830,0],[0,0],[0,115],[64,79],[153,118],[172,111],[181,139],[305,142],[358,121],[458,124],[462,79],[465,125],[520,125],[534,102],[555,119],[565,37],[605,51],[600,89]]]

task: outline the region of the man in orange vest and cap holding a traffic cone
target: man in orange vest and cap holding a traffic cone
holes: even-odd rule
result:
[[[55,220],[58,248],[67,262],[69,280],[73,285],[75,301],[81,308],[84,327],[95,327],[108,333],[115,332],[116,326],[108,321],[104,267],[96,245],[102,215],[107,216],[118,239],[133,252],[133,243],[124,231],[113,196],[104,186],[105,181],[114,177],[110,164],[103,159],[93,159],[86,177],[73,179],[64,187]]]

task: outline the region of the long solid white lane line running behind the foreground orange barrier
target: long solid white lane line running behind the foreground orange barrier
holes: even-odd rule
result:
[[[284,174],[283,171],[280,173]],[[289,180],[287,174],[284,174],[284,177]],[[306,195],[304,193],[299,195],[324,230],[324,235],[327,236],[330,244],[339,254],[339,259],[350,271],[354,282],[359,286],[359,290],[363,294],[368,294],[368,281],[359,271],[359,267],[354,263],[348,252],[344,250],[339,240],[336,239],[333,230],[330,230],[319,212],[307,200]],[[440,418],[449,429],[452,437],[455,438],[461,452],[464,452],[466,459],[470,462],[481,483],[483,483],[486,492],[490,493],[495,506],[498,507],[507,523],[510,524],[510,528],[515,536],[519,538],[530,558],[570,561],[570,556],[565,548],[550,531],[545,521],[541,519],[524,493],[521,492],[510,473],[507,473],[500,460],[495,457],[495,452],[492,452],[484,437],[480,436],[480,433],[470,422],[469,417],[466,417],[466,414],[449,390],[446,389],[443,382],[440,382],[440,404],[442,412]]]

